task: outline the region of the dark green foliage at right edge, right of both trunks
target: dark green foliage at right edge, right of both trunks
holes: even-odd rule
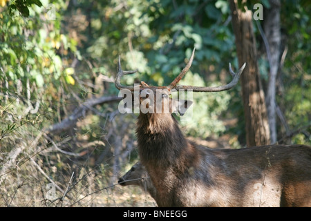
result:
[[[311,18],[308,13],[311,6],[306,1],[298,4],[287,1],[282,4],[282,10],[284,44],[288,46],[288,53],[283,64],[278,103],[290,129],[304,132],[293,137],[292,142],[311,144],[308,135],[311,133]]]

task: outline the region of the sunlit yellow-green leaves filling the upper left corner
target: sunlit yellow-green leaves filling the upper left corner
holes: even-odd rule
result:
[[[57,83],[59,77],[62,75],[66,77],[68,73],[64,71],[66,69],[61,56],[68,50],[73,52],[76,50],[68,37],[57,28],[61,21],[59,15],[55,15],[57,17],[55,20],[42,20],[40,16],[46,12],[44,7],[37,7],[41,6],[37,1],[16,1],[16,3],[28,8],[30,15],[27,15],[28,18],[21,17],[15,13],[16,11],[8,12],[8,9],[1,12],[0,56],[3,59],[0,66],[4,75],[2,78],[12,80],[15,84],[19,79],[23,82],[30,79],[30,84],[34,82],[38,88],[50,83],[59,86]],[[30,8],[33,3],[37,6]],[[47,28],[48,26],[50,28]]]

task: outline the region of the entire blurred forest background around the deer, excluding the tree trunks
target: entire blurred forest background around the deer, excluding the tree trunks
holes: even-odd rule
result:
[[[273,1],[247,1],[260,81],[266,94],[265,44]],[[311,4],[281,1],[276,75],[276,142],[311,144]],[[263,30],[263,31],[262,31]],[[268,39],[269,40],[269,39]],[[238,59],[229,3],[223,0],[1,0],[0,206],[155,206],[138,187],[115,185],[138,158],[136,114],[120,114],[117,57],[138,68],[124,84],[230,81]],[[194,93],[182,131],[211,148],[245,148],[241,85]],[[178,117],[177,117],[178,118]]]

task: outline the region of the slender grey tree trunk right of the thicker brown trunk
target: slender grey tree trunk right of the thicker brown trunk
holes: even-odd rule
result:
[[[266,104],[267,115],[269,119],[271,143],[274,144],[277,141],[276,131],[276,75],[279,69],[280,60],[280,42],[281,42],[281,30],[280,30],[280,8],[281,2],[279,0],[270,0],[270,8],[265,10],[265,19],[263,23],[263,30],[267,39],[267,59],[270,65],[269,82],[267,86]]]

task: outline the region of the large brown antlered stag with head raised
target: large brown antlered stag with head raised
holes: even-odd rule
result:
[[[236,74],[229,66],[233,79],[225,86],[177,85],[193,59],[194,51],[169,86],[140,84],[140,107],[153,111],[138,115],[138,151],[156,187],[158,206],[311,206],[310,146],[210,149],[182,134],[172,113],[189,108],[191,102],[172,99],[171,91],[228,90],[237,84],[245,68],[244,64]],[[134,86],[123,86],[120,79],[136,71],[123,71],[119,57],[116,88],[134,91]],[[159,102],[162,111],[158,111]]]

